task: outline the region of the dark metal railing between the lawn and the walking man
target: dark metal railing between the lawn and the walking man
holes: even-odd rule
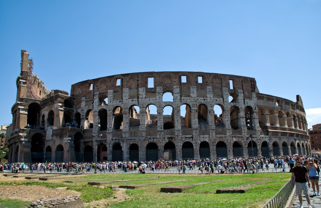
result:
[[[289,180],[288,183],[286,183],[262,208],[285,207],[292,189],[292,183],[291,180]]]

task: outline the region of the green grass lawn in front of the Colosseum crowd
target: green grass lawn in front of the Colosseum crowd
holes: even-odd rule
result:
[[[158,178],[159,176],[159,178]],[[112,184],[106,184],[105,188],[99,186],[86,185],[92,179],[127,180],[127,179],[146,179],[137,181],[121,181]],[[280,188],[289,181],[289,173],[264,173],[264,174],[225,174],[225,175],[176,175],[176,174],[108,174],[108,175],[86,175],[74,180],[74,183],[50,183],[39,181],[20,182],[23,185],[43,185],[48,188],[67,186],[70,190],[81,193],[80,197],[85,202],[108,199],[112,196],[110,185],[130,185],[130,184],[150,184],[166,181],[177,181],[189,179],[188,181],[175,182],[170,184],[157,184],[139,187],[137,189],[127,189],[125,193],[131,197],[131,200],[123,202],[110,202],[108,207],[262,207]],[[161,193],[161,187],[190,185],[214,180],[221,180],[206,185],[197,185],[193,188],[186,189],[182,193]],[[70,180],[70,179],[68,179]],[[262,180],[272,180],[247,190],[245,193],[227,193],[216,194],[216,189],[225,187],[235,187],[246,185]],[[10,185],[8,182],[0,182],[0,185]],[[28,205],[28,204],[27,204]],[[92,206],[92,205],[91,205]],[[0,199],[0,207],[26,207],[26,203],[19,200]],[[101,207],[101,206],[100,206]]]

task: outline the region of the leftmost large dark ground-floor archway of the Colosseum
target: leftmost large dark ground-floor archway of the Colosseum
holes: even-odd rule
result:
[[[45,136],[35,133],[31,137],[31,162],[43,162],[45,150]]]

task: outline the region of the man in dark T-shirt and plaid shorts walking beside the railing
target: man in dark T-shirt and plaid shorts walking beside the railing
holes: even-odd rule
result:
[[[294,177],[295,177],[295,194],[299,195],[300,208],[303,208],[302,205],[302,190],[305,194],[308,202],[308,208],[312,208],[310,205],[310,197],[308,194],[308,188],[310,188],[308,169],[305,166],[301,165],[301,158],[297,158],[296,166],[292,168],[291,182],[292,187],[294,188]]]

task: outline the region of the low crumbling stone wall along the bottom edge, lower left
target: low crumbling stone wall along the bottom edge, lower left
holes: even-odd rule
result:
[[[50,199],[40,199],[34,203],[31,203],[28,208],[47,208],[47,207],[73,207],[81,208],[83,206],[83,201],[79,196],[61,196],[54,197]]]

